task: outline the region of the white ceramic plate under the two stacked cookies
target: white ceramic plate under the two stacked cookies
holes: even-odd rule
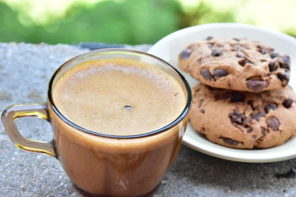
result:
[[[289,84],[296,88],[296,78],[293,77],[296,76],[296,39],[284,33],[273,32],[256,26],[216,23],[190,27],[162,38],[152,46],[148,53],[176,67],[185,76],[190,86],[194,87],[199,82],[179,68],[178,55],[182,49],[191,42],[205,39],[209,35],[213,37],[246,37],[274,47],[275,50],[281,54],[290,55],[292,59],[292,72]],[[296,138],[274,148],[240,150],[212,143],[196,133],[192,127],[188,125],[185,132],[184,144],[192,149],[214,157],[239,162],[278,162],[296,158]]]

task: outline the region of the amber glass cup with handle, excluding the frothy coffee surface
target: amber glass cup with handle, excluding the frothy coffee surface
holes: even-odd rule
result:
[[[80,63],[113,58],[145,62],[173,76],[186,99],[180,116],[156,131],[129,136],[89,131],[65,118],[52,98],[59,78]],[[175,162],[188,123],[191,102],[192,93],[187,81],[168,63],[144,52],[104,49],[82,54],[60,66],[49,81],[46,103],[11,105],[3,111],[1,118],[5,131],[18,148],[58,159],[81,194],[141,197],[155,192],[165,172]],[[15,120],[22,117],[47,120],[52,127],[53,140],[42,142],[23,137],[15,125]]]

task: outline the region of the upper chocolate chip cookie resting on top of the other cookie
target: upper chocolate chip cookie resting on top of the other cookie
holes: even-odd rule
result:
[[[208,37],[190,44],[179,55],[179,66],[203,84],[249,92],[286,86],[290,65],[289,56],[237,38]]]

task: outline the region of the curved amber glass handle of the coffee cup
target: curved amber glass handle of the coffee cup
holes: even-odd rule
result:
[[[57,158],[53,140],[50,142],[25,138],[17,129],[15,120],[23,117],[37,117],[50,122],[46,103],[10,105],[2,112],[3,127],[14,145],[24,151],[43,153]]]

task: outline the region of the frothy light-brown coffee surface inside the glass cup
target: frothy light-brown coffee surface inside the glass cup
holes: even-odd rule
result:
[[[185,108],[179,83],[156,66],[129,59],[88,61],[57,81],[53,101],[74,124],[108,135],[163,128]]]

